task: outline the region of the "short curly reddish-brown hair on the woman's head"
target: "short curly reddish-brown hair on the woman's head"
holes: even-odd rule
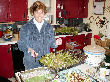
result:
[[[45,14],[47,13],[46,6],[42,2],[36,1],[30,7],[30,14],[33,15],[35,11],[40,10],[40,9],[42,9]]]

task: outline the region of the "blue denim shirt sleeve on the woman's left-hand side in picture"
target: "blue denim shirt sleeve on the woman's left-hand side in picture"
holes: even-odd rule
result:
[[[28,50],[28,30],[23,26],[19,31],[18,48],[20,51],[27,52]]]

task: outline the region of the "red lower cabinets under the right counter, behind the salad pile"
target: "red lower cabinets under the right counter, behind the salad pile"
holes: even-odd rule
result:
[[[55,49],[55,51],[66,49],[66,43],[69,43],[69,42],[77,42],[80,45],[76,46],[74,48],[75,49],[80,49],[80,50],[83,51],[83,48],[85,46],[91,45],[92,33],[88,33],[87,35],[81,34],[81,35],[76,35],[76,36],[66,36],[66,37],[62,36],[62,37],[59,37],[59,38],[62,39],[62,45],[58,45],[58,47]],[[50,49],[50,52],[53,52],[52,48]]]

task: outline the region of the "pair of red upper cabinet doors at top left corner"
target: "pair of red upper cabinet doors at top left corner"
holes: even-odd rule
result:
[[[27,0],[0,0],[0,22],[26,21]]]

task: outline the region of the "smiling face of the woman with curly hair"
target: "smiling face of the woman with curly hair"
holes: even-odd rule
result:
[[[36,21],[40,23],[44,19],[45,13],[43,12],[42,9],[40,9],[40,10],[34,11],[33,16],[36,19]]]

